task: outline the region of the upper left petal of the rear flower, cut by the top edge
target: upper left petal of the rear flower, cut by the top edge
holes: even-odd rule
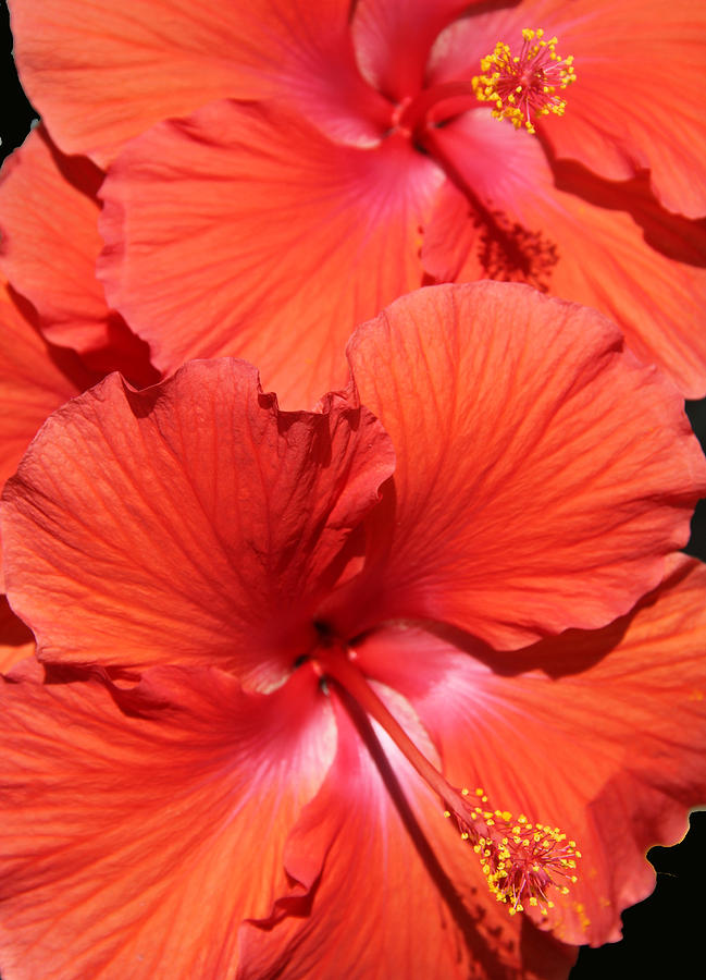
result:
[[[389,107],[357,70],[349,7],[14,0],[12,28],[23,84],[54,139],[104,166],[160,120],[228,97],[280,96],[340,136],[379,137]]]

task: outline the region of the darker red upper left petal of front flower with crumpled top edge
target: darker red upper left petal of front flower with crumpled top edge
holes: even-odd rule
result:
[[[141,393],[112,375],[8,485],[8,592],[46,660],[218,664],[270,687],[309,649],[393,461],[352,399],[280,412],[241,362]]]

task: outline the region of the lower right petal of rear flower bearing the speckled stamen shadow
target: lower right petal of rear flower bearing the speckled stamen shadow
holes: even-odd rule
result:
[[[422,252],[431,275],[518,279],[594,306],[686,397],[706,392],[706,222],[668,215],[644,177],[553,172],[534,137],[482,112],[434,140],[471,199],[451,182],[439,193]]]

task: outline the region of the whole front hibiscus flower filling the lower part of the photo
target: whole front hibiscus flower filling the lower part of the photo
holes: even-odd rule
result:
[[[112,375],[8,483],[7,980],[566,976],[706,796],[678,393],[522,285],[348,357]]]

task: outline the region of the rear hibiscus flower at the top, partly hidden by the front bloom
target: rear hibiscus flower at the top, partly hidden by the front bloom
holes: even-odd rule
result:
[[[312,402],[396,296],[497,278],[597,307],[686,396],[706,391],[698,0],[12,8],[52,137],[114,160],[101,275],[160,369],[236,354]],[[566,91],[544,90],[546,49],[521,53],[528,27],[573,56]],[[498,41],[535,135],[478,99]],[[558,95],[565,114],[543,115]]]

